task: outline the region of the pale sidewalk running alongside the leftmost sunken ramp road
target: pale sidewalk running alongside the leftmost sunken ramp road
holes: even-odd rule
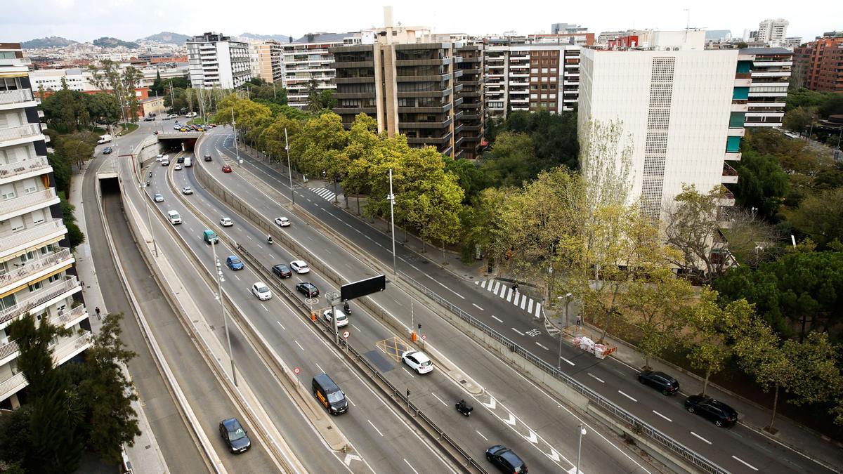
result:
[[[88,234],[88,228],[85,223],[85,210],[82,200],[82,189],[84,186],[84,173],[89,166],[99,167],[99,159],[92,159],[83,165],[81,172],[73,173],[71,176],[70,196],[67,197],[76,209],[76,222],[83,234]],[[88,186],[93,186],[88,183]],[[105,307],[105,299],[99,291],[99,280],[97,279],[97,272],[94,268],[94,259],[91,257],[91,248],[88,240],[76,247],[74,252],[76,257],[76,270],[78,272],[79,281],[82,282],[82,294],[85,299],[85,307],[88,308],[89,320],[91,323],[91,330],[95,333],[99,331],[102,326],[102,320],[99,319],[94,311],[99,308],[102,315],[108,314],[108,308]],[[143,412],[141,401],[133,401],[132,408],[137,412],[137,426],[141,430],[140,436],[135,438],[135,444],[131,447],[126,446],[126,455],[129,461],[132,462],[132,469],[135,472],[150,472],[150,473],[164,473],[169,472],[167,463],[164,461],[164,455],[158,446],[158,440],[155,439],[152,428],[149,426],[149,421],[146,413]]]

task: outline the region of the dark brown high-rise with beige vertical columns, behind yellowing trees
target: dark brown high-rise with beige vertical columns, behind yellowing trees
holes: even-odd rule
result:
[[[360,44],[329,48],[336,69],[334,111],[346,126],[367,113],[380,132],[402,133],[411,146],[430,145],[454,158],[468,143],[479,148],[474,137],[480,137],[482,118],[478,126],[466,125],[467,110],[460,108],[466,99],[460,93],[480,85],[479,78],[467,79],[477,78],[477,51],[464,49],[470,45],[461,41],[437,40],[425,27],[394,27],[389,10],[386,17],[384,28],[362,31]],[[472,58],[466,71],[459,67],[464,52]],[[481,117],[469,115],[475,122]]]

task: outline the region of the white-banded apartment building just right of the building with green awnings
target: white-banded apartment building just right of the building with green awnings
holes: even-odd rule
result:
[[[749,78],[744,127],[781,127],[785,98],[793,67],[793,52],[786,48],[744,48],[737,78]]]

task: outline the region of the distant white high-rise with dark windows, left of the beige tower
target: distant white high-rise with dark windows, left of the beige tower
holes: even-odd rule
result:
[[[249,43],[233,41],[218,33],[205,33],[187,41],[191,87],[234,89],[252,78]]]

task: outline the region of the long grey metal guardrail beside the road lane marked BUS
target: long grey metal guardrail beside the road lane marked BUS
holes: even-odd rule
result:
[[[620,423],[624,423],[626,426],[629,426],[631,431],[635,432],[636,434],[642,434],[647,436],[647,438],[652,439],[659,445],[663,446],[664,448],[670,450],[670,452],[674,453],[675,455],[679,455],[685,461],[688,461],[691,465],[700,468],[702,471],[711,472],[712,474],[726,474],[728,473],[727,470],[723,469],[720,466],[717,466],[713,461],[709,461],[705,457],[696,454],[693,450],[686,448],[683,444],[679,444],[673,439],[670,439],[666,434],[658,431],[656,428],[652,428],[649,424],[642,421],[642,419],[636,417],[635,415],[627,412],[621,407],[618,407],[612,401],[607,400],[603,396],[600,396],[599,393],[589,389],[587,386],[579,383],[577,380],[574,380],[570,375],[565,374],[556,367],[553,367],[550,364],[547,364],[544,360],[536,357],[533,353],[530,353],[524,347],[519,346],[517,343],[511,341],[506,336],[503,336],[501,333],[495,331],[489,326],[486,326],[481,320],[475,319],[474,316],[466,313],[464,310],[459,309],[454,304],[451,304],[447,299],[443,299],[438,294],[432,292],[430,289],[422,285],[421,283],[416,282],[415,279],[410,277],[404,272],[399,272],[401,280],[405,283],[409,284],[412,288],[415,288],[417,291],[420,291],[422,294],[425,294],[428,298],[433,299],[438,304],[442,304],[445,308],[450,310],[454,315],[459,316],[460,319],[464,320],[465,322],[469,323],[471,326],[483,331],[484,334],[495,339],[497,342],[501,342],[505,346],[509,347],[513,353],[517,353],[519,356],[527,359],[530,363],[534,364],[536,367],[542,369],[548,374],[553,375],[556,380],[561,380],[563,383],[571,387],[574,391],[577,391],[582,396],[588,398],[588,401],[595,403],[598,407],[602,408],[604,412],[608,412],[609,415],[615,417]]]

